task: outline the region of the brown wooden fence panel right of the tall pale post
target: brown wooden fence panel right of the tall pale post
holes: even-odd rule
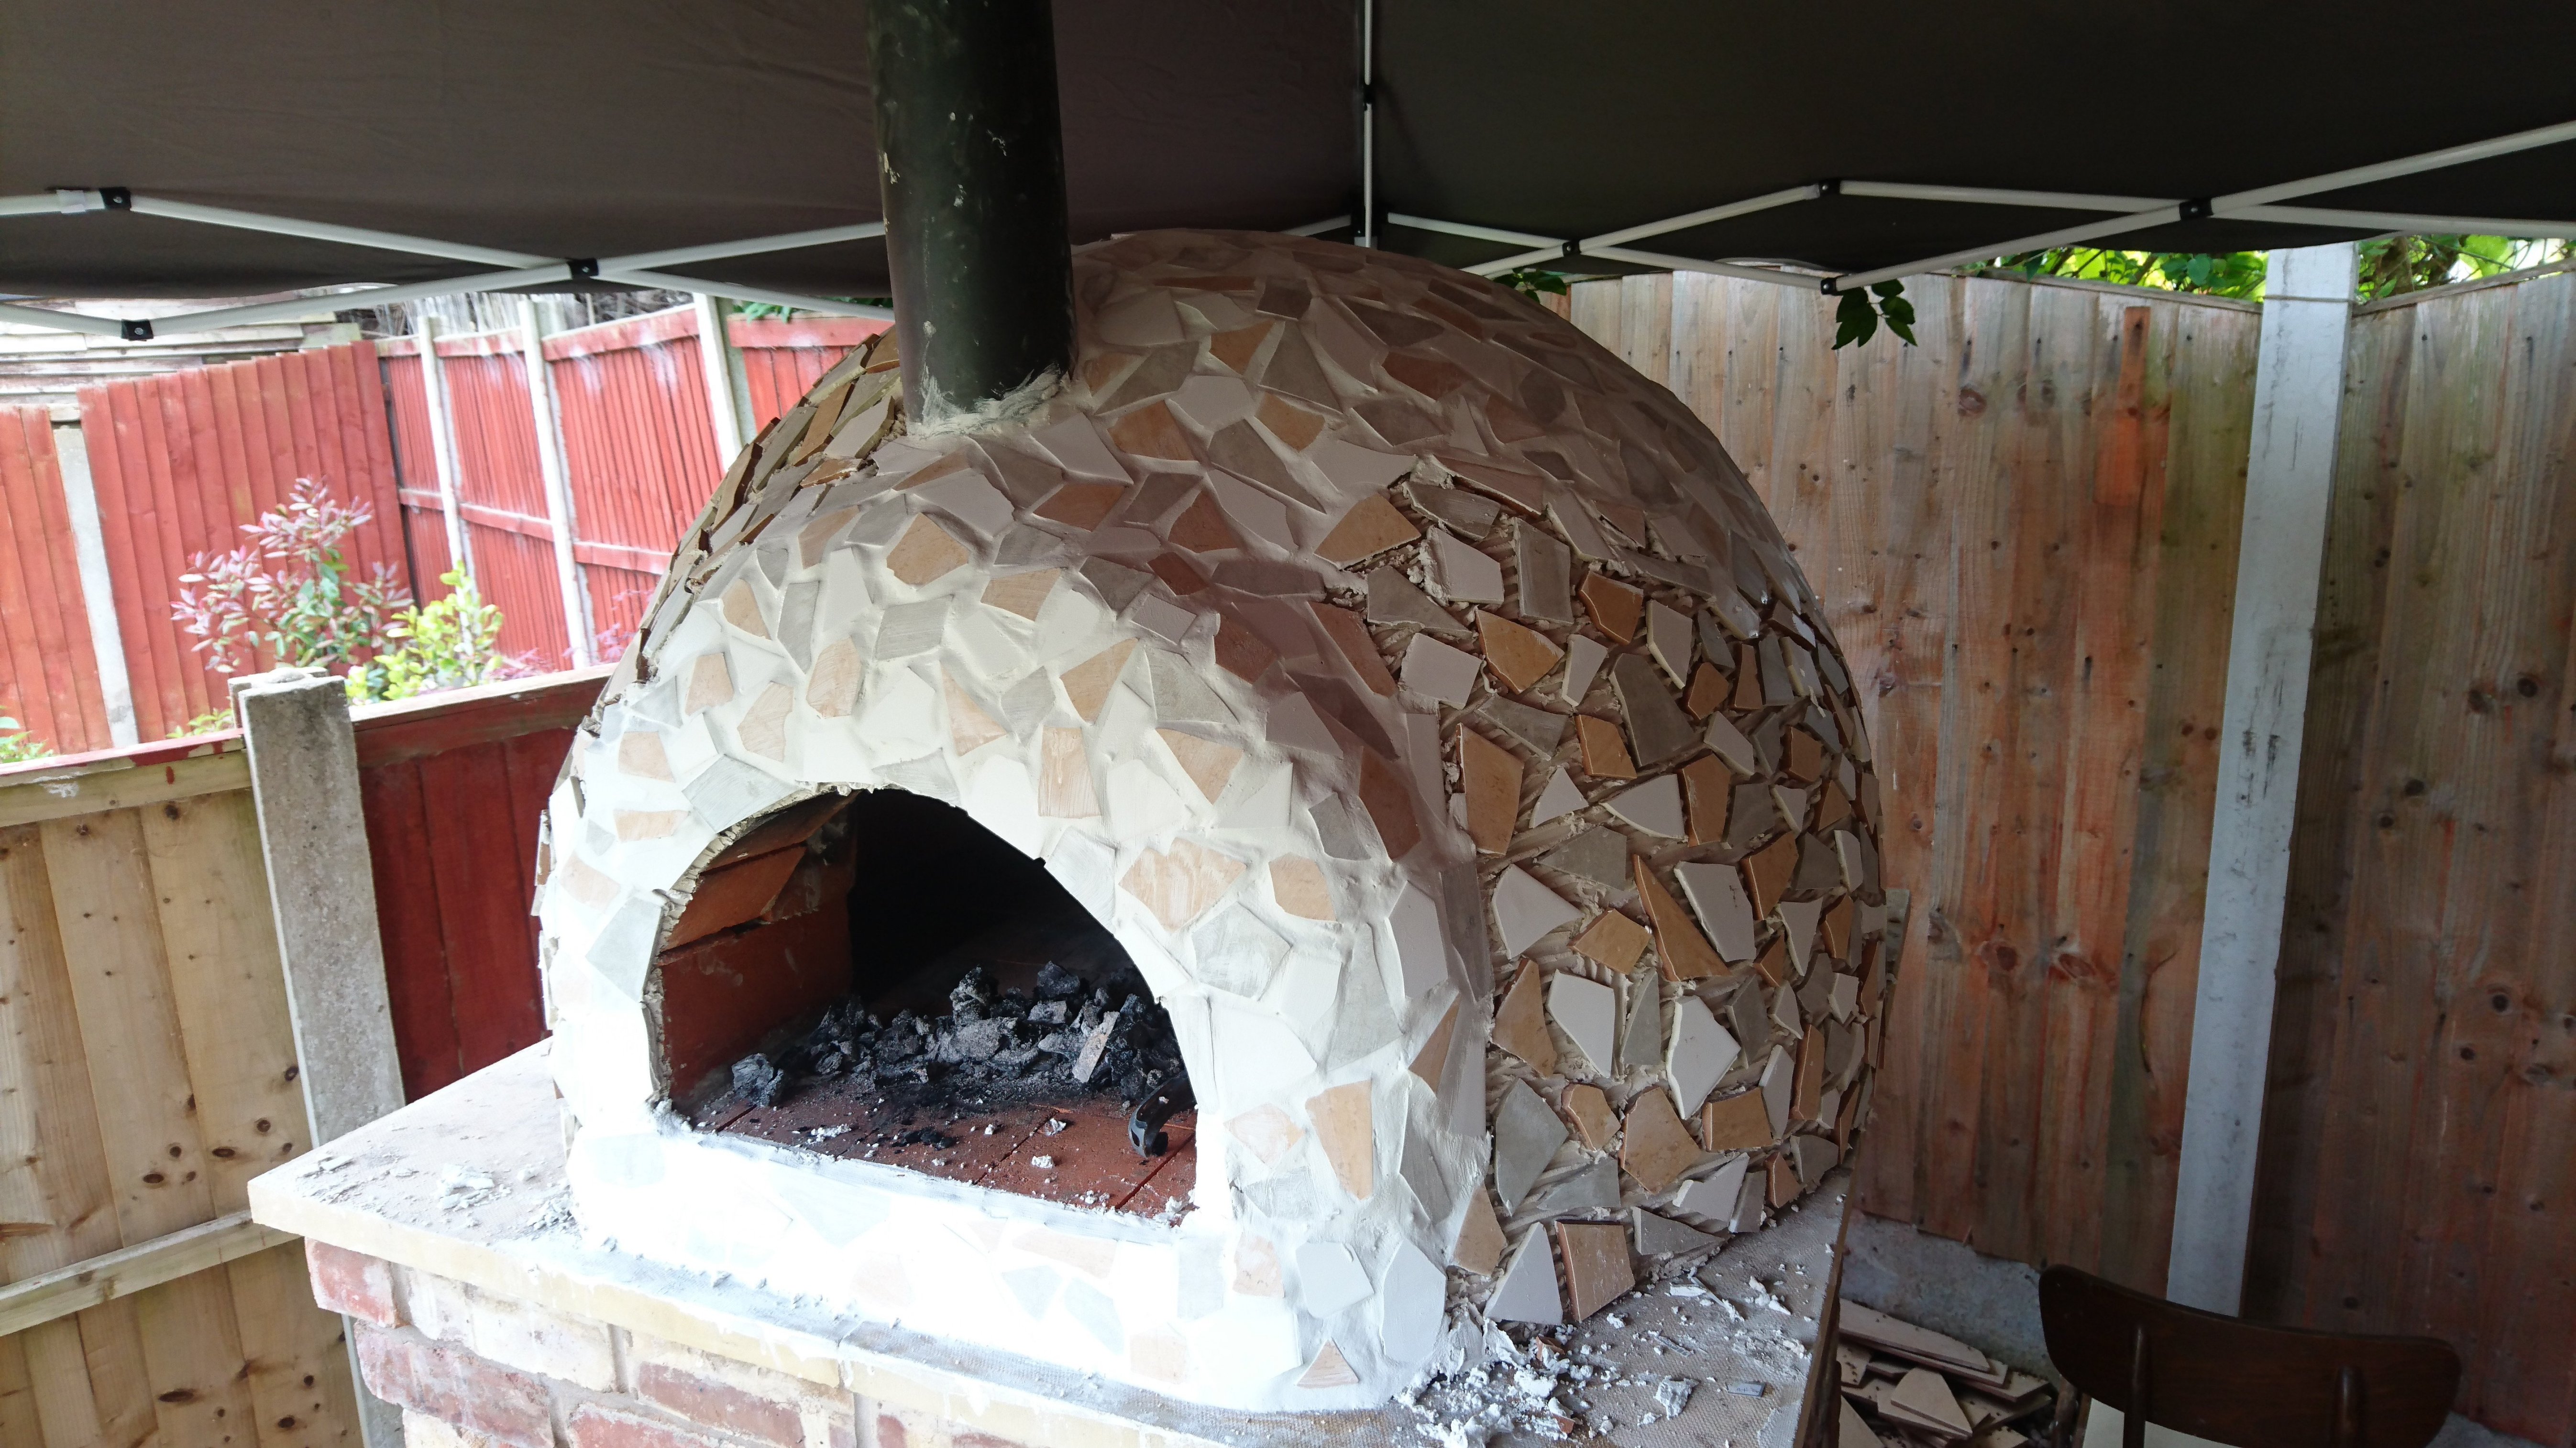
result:
[[[2576,278],[2354,317],[2249,1306],[2576,1435]]]

